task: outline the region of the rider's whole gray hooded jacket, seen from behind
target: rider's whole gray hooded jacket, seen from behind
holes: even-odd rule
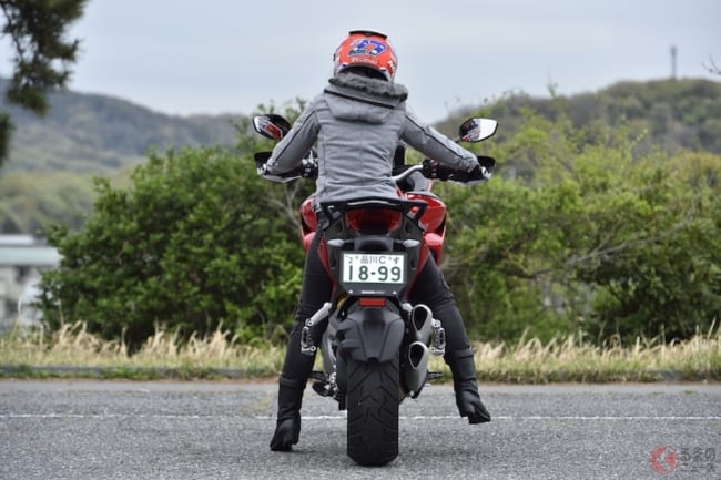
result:
[[[315,145],[318,201],[397,197],[393,155],[403,141],[429,159],[471,171],[476,155],[460,147],[406,106],[397,83],[342,73],[311,101],[266,163],[280,175],[298,166]]]

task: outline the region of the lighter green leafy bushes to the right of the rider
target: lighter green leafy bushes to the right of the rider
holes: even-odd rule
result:
[[[499,175],[441,187],[445,272],[474,335],[671,339],[719,319],[721,159],[636,145],[622,126],[579,132],[529,113],[491,151]],[[532,176],[509,176],[515,162]]]

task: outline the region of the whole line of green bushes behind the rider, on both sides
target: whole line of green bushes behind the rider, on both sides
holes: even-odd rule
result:
[[[97,181],[80,231],[50,229],[63,255],[42,279],[51,326],[82,320],[131,345],[156,324],[184,337],[222,324],[243,341],[287,330],[303,267],[297,207],[314,185],[258,178],[248,154],[272,145],[247,120],[237,130],[241,155],[152,153],[129,185]],[[721,157],[649,152],[634,129],[531,111],[473,149],[498,160],[496,176],[436,186],[449,213],[441,269],[471,337],[670,340],[718,321]]]

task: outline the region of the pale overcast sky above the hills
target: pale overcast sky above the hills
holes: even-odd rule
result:
[[[91,0],[69,84],[170,114],[248,114],[309,99],[348,30],[389,35],[396,81],[427,121],[508,92],[593,92],[620,80],[711,78],[721,0]],[[10,49],[0,41],[0,74]]]

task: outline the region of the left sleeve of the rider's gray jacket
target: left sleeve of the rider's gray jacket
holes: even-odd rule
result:
[[[266,172],[281,175],[295,168],[313,147],[318,135],[319,124],[315,115],[314,102],[301,112],[293,127],[285,134],[265,163]]]

